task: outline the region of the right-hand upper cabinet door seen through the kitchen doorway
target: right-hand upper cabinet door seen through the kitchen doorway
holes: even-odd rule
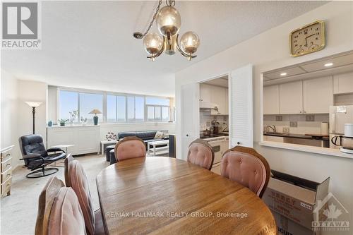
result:
[[[228,89],[219,86],[212,86],[211,88],[211,102],[217,104],[218,110],[211,110],[212,115],[227,115]]]

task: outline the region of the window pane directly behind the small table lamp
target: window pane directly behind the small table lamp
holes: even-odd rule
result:
[[[87,118],[89,122],[93,121],[95,114],[89,114],[93,109],[103,112],[103,95],[94,93],[80,93],[80,117]],[[97,114],[102,121],[103,114]]]

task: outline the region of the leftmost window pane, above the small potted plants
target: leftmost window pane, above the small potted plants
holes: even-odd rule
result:
[[[59,119],[70,119],[70,112],[76,110],[78,110],[78,92],[60,90]],[[78,117],[73,122],[78,122]]]

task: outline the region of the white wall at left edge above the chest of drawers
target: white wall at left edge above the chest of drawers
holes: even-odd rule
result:
[[[15,145],[13,162],[16,166],[20,159],[18,149],[18,80],[4,70],[1,70],[1,144],[0,149]]]

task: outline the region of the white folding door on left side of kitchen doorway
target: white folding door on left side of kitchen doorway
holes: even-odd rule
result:
[[[200,85],[191,83],[181,86],[181,156],[186,159],[188,147],[200,136],[199,103]]]

